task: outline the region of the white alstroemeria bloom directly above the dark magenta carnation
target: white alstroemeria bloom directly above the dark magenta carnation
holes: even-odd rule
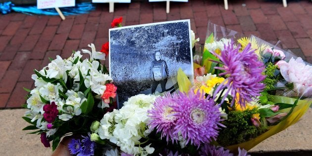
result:
[[[50,102],[55,102],[59,99],[58,90],[63,91],[63,88],[59,83],[53,85],[49,82],[47,85],[44,85],[44,87],[40,88],[39,92],[44,99]]]

